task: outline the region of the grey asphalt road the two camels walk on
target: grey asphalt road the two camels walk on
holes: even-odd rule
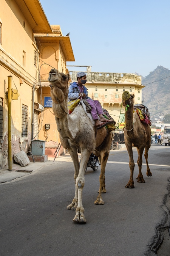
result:
[[[136,163],[136,148],[133,153]],[[57,162],[0,184],[0,255],[156,255],[170,220],[170,147],[152,144],[148,162],[152,177],[146,176],[143,156],[145,183],[135,179],[135,188],[128,189],[128,153],[111,151],[101,206],[94,204],[100,166],[97,171],[88,168],[83,190],[85,225],[74,223],[75,211],[66,209],[74,198],[72,162]],[[137,175],[136,164],[134,178]]]

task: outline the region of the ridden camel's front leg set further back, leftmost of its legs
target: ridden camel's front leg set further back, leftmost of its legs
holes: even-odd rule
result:
[[[78,204],[78,189],[76,186],[76,179],[79,174],[79,158],[77,155],[76,148],[69,148],[68,151],[71,155],[71,159],[73,160],[73,164],[74,164],[75,195],[74,195],[74,199],[73,199],[72,203],[67,206],[67,209],[76,210],[77,204]]]

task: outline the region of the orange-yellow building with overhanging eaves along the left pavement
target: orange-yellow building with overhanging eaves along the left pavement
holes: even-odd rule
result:
[[[51,67],[47,64],[66,72],[70,60],[74,61],[70,38],[62,36],[59,25],[49,25],[39,0],[1,0],[0,169],[8,165],[8,77],[12,90],[19,93],[12,100],[13,156],[21,150],[28,152],[32,139],[46,138],[43,121],[54,121],[54,116],[46,108],[43,112],[43,95],[50,96],[50,88],[43,87],[39,77],[48,78]],[[43,61],[47,64],[42,65]]]

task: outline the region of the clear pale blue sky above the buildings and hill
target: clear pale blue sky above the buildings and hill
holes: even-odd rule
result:
[[[76,61],[67,65],[144,77],[159,65],[170,69],[170,0],[40,2],[49,23],[70,32]]]

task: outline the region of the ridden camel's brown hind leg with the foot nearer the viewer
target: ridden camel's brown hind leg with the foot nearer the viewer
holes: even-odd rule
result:
[[[100,173],[100,177],[99,177],[99,181],[100,181],[100,187],[99,187],[99,195],[97,196],[96,201],[94,202],[94,204],[104,204],[104,201],[102,200],[102,193],[106,193],[106,189],[105,189],[105,167],[107,164],[107,159],[109,156],[109,151],[105,151],[105,152],[100,152],[101,157],[99,158],[99,161],[101,163],[101,173]]]

